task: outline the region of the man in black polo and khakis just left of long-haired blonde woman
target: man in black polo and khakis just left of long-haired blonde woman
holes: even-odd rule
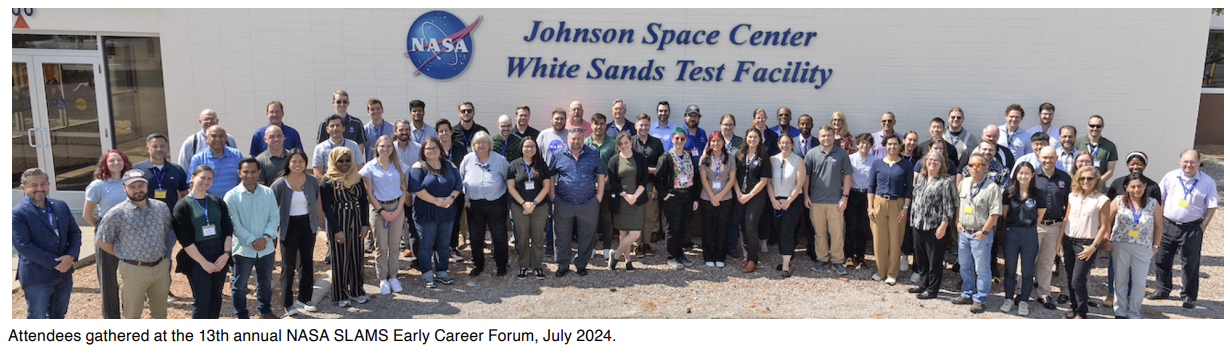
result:
[[[1034,294],[1037,294],[1036,299],[1038,299],[1038,303],[1042,303],[1042,307],[1055,310],[1055,301],[1050,299],[1050,267],[1058,265],[1055,268],[1059,269],[1059,294],[1060,297],[1068,297],[1061,295],[1068,294],[1068,272],[1055,253],[1059,238],[1064,232],[1064,215],[1068,214],[1068,193],[1071,190],[1073,178],[1055,167],[1059,161],[1055,147],[1044,146],[1038,150],[1038,161],[1042,167],[1038,168],[1033,183],[1046,202],[1047,211],[1038,221],[1038,257],[1033,263],[1034,284],[1038,285],[1038,290]]]

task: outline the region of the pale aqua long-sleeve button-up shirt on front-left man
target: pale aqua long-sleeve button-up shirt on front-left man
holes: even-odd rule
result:
[[[246,258],[272,254],[272,242],[267,242],[264,249],[257,251],[252,247],[252,241],[266,235],[269,238],[278,237],[278,222],[282,217],[278,214],[278,198],[273,195],[273,190],[256,184],[256,190],[248,192],[244,184],[239,184],[226,192],[223,202],[226,202],[234,226],[231,252]]]

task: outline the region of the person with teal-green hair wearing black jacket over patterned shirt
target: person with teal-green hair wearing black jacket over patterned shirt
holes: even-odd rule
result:
[[[691,155],[684,150],[688,131],[675,128],[670,135],[672,146],[658,157],[658,171],[653,183],[662,197],[662,213],[665,215],[667,230],[667,267],[683,270],[692,264],[684,256],[684,241],[688,238],[688,224],[699,203],[694,199],[700,194],[700,176],[692,167]],[[690,206],[689,206],[690,205]]]

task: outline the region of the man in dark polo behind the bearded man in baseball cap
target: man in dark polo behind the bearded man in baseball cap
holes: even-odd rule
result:
[[[166,154],[170,151],[166,135],[154,133],[145,136],[145,151],[150,154],[150,157],[134,163],[133,168],[145,172],[145,182],[149,184],[146,194],[166,204],[167,211],[171,211],[175,204],[188,194],[188,173],[180,165],[166,161]],[[167,260],[171,260],[172,249],[175,249],[175,231],[166,236],[166,253],[164,256]],[[171,267],[175,264],[172,263]],[[167,274],[173,269],[171,267],[167,268]],[[173,301],[175,295],[170,290],[167,291],[167,296],[171,296],[169,301]]]

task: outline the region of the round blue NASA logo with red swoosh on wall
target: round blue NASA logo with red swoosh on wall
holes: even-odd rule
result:
[[[446,11],[430,11],[418,16],[406,36],[406,57],[415,64],[415,75],[435,80],[458,77],[474,58],[471,32],[482,21],[478,16],[466,26]]]

